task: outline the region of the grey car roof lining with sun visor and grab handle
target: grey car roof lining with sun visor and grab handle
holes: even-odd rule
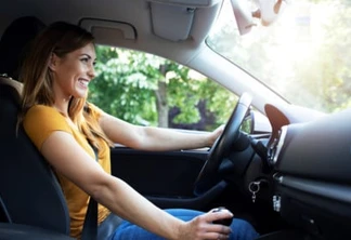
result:
[[[182,1],[178,2],[182,3]],[[194,2],[204,2],[206,4],[196,8]],[[0,32],[13,19],[24,15],[39,16],[47,25],[55,21],[79,24],[86,19],[96,19],[99,21],[99,27],[93,28],[93,31],[95,31],[98,44],[148,51],[184,64],[193,57],[191,55],[196,55],[196,52],[200,49],[203,40],[207,37],[217,18],[221,3],[221,0],[202,0],[191,1],[187,6],[172,4],[171,0],[153,2],[147,0],[101,0],[89,1],[84,4],[81,4],[80,0],[6,1],[1,4],[0,9]],[[160,5],[160,8],[152,10],[151,4]],[[14,8],[16,11],[13,11]],[[194,15],[190,21],[182,21],[184,18],[182,11],[187,8],[194,9]],[[48,9],[52,11],[47,11]],[[173,14],[173,17],[168,18],[169,12],[167,11],[173,11],[176,14]],[[14,12],[17,15],[14,15]],[[9,13],[12,13],[12,15],[8,15]],[[112,27],[112,23],[125,23],[123,26],[129,25],[129,28],[134,30],[135,39],[126,37],[130,36],[129,32],[132,32],[129,28],[116,27],[118,24]],[[179,29],[190,30],[186,36],[184,30],[177,35],[180,31]],[[110,37],[112,32],[113,38]],[[174,44],[178,45],[177,51],[173,48]],[[184,54],[184,52],[187,53]]]

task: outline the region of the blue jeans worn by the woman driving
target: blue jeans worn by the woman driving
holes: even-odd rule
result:
[[[166,210],[166,212],[171,215],[183,219],[190,221],[198,215],[204,214],[204,212],[184,209],[171,209]],[[256,232],[253,227],[243,219],[234,218],[231,225],[232,234],[230,236],[231,240],[253,240],[259,235]],[[164,238],[158,237],[154,234],[146,231],[145,229],[123,221],[119,227],[116,229],[115,234],[112,236],[110,240],[164,240]]]

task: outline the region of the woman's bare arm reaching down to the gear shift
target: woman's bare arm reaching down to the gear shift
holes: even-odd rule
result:
[[[53,132],[41,152],[54,169],[115,214],[167,239],[216,239],[230,228],[210,224],[230,213],[208,213],[184,223],[161,211],[128,184],[110,176],[66,132]],[[223,228],[224,227],[224,228]]]

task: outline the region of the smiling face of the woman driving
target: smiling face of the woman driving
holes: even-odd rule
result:
[[[89,82],[95,77],[95,49],[92,43],[58,57],[53,54],[50,68],[53,71],[55,97],[80,98],[88,94]]]

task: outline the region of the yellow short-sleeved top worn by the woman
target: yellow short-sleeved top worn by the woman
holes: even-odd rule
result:
[[[91,109],[91,115],[98,120],[102,110],[92,104],[89,104],[89,107]],[[78,144],[95,160],[95,154],[89,145],[86,136],[78,130],[70,128],[68,122],[65,120],[65,117],[53,107],[43,105],[31,107],[24,118],[23,125],[29,138],[39,150],[52,132],[64,131],[72,134]],[[107,173],[110,174],[109,146],[103,139],[101,139],[99,144],[101,146],[99,149],[99,163]],[[63,175],[56,173],[56,176],[69,210],[70,236],[74,238],[80,238],[90,197]],[[99,204],[98,223],[100,224],[103,222],[108,214],[109,210]]]

